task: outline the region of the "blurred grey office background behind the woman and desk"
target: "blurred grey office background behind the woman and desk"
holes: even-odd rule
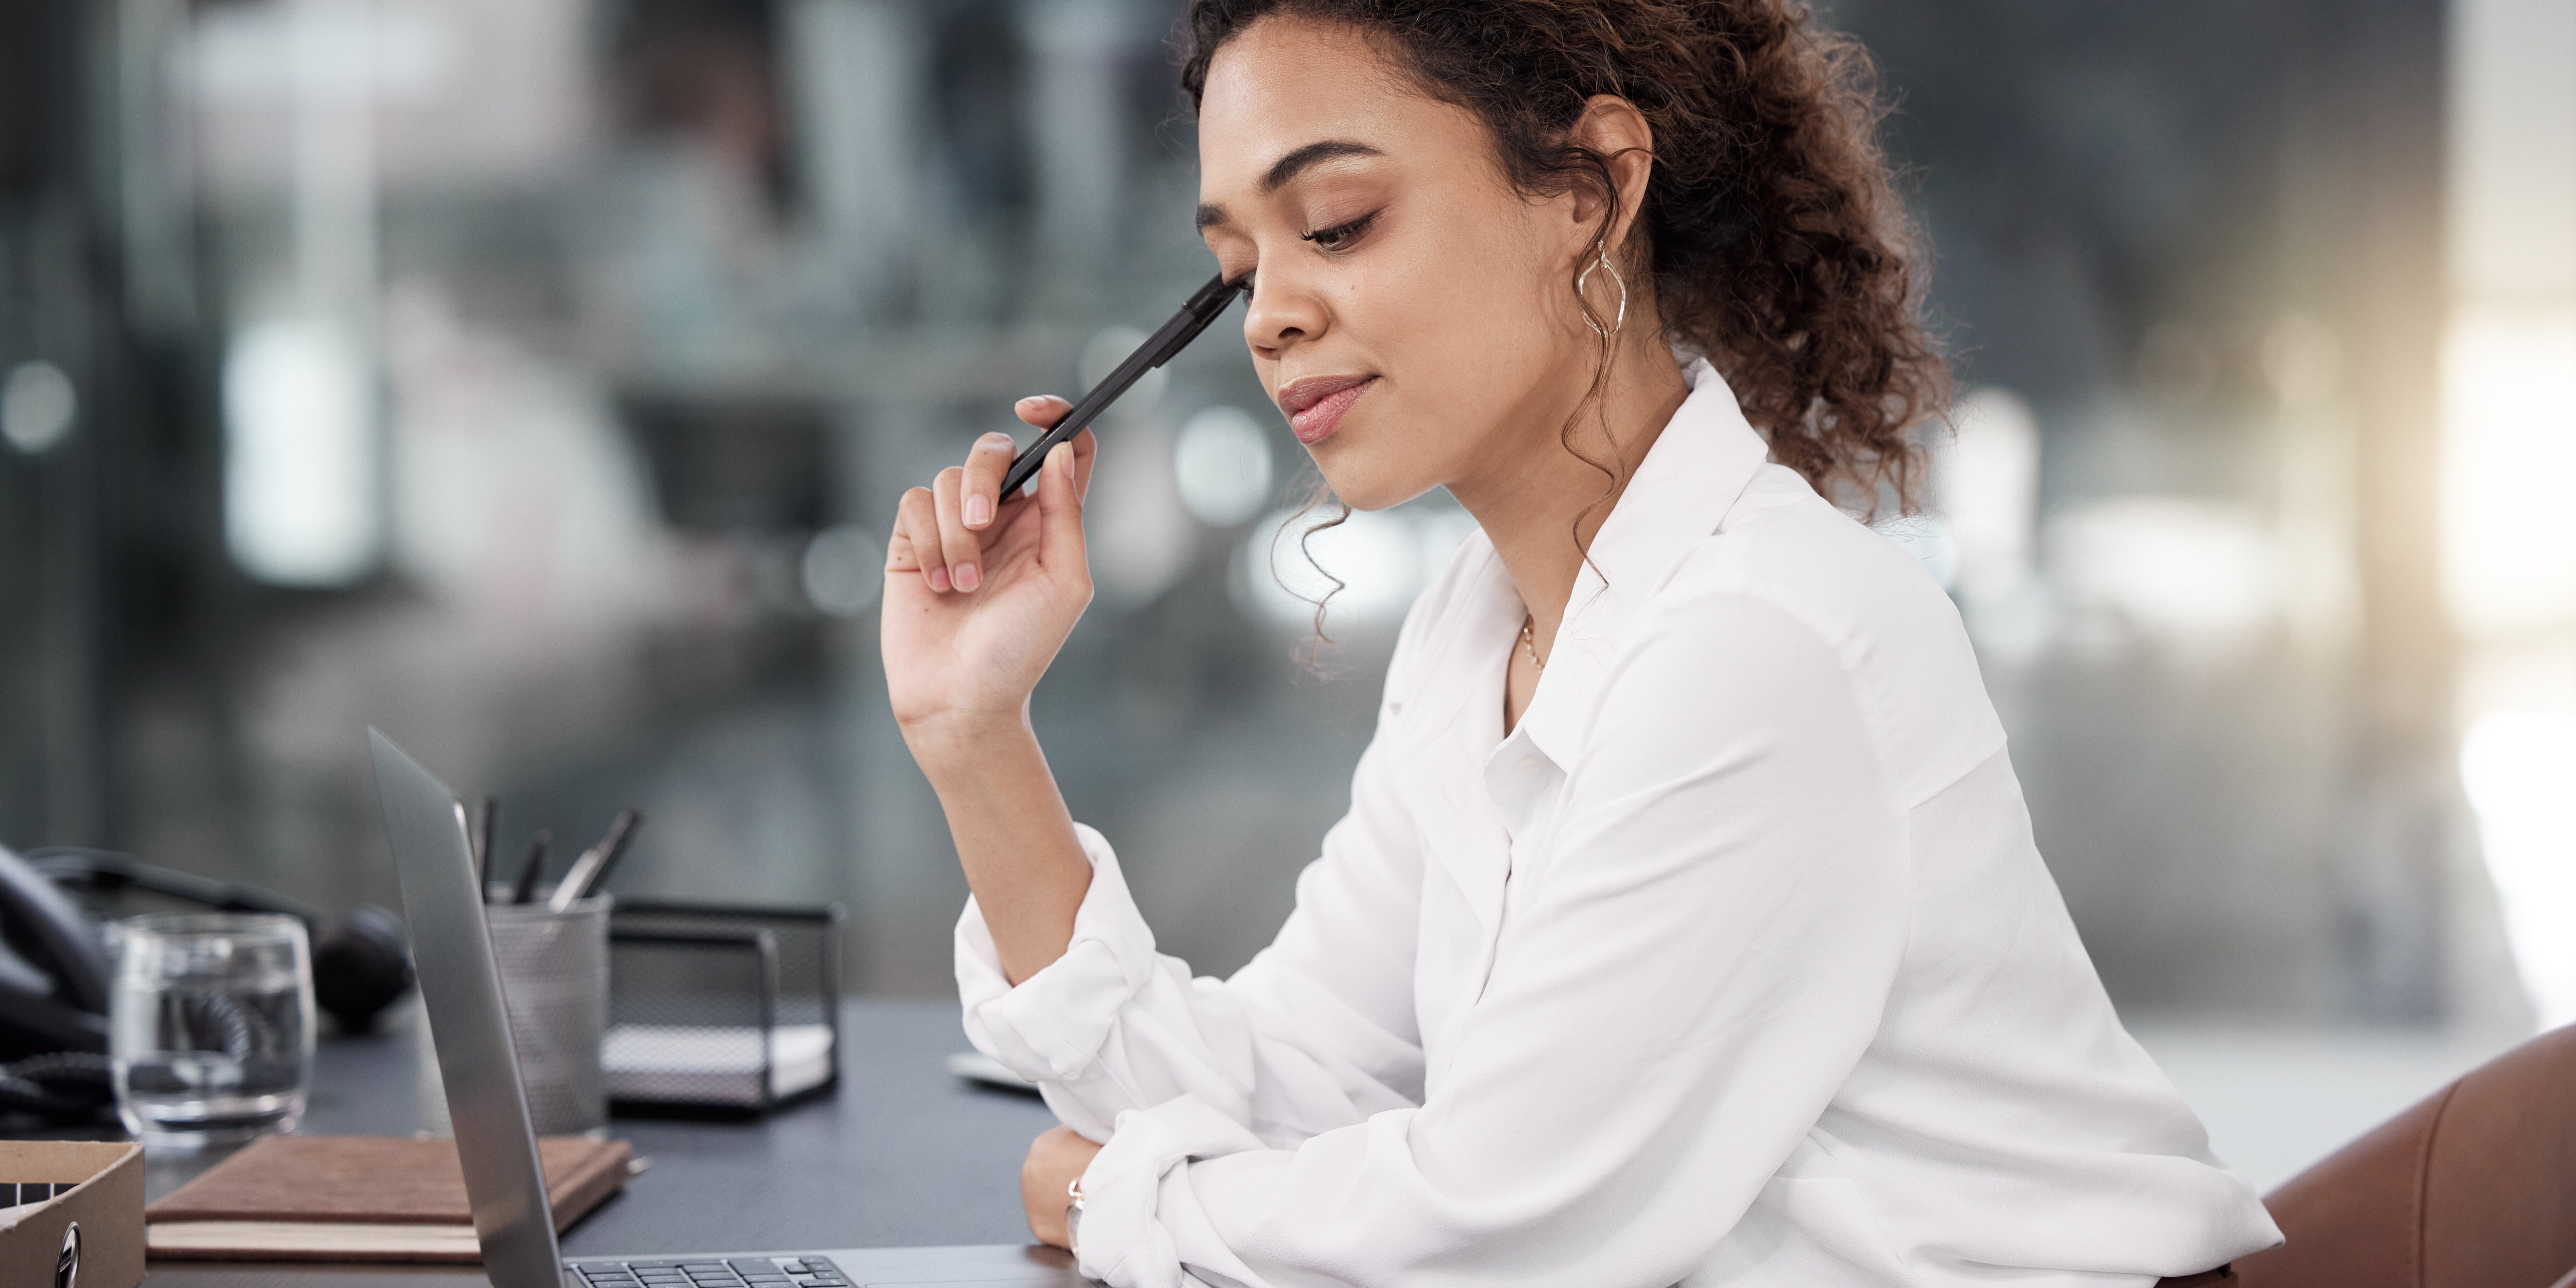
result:
[[[2257,1180],[2576,1020],[2576,0],[1834,0],[1958,350],[1937,502],[2040,848]],[[379,724],[631,894],[963,881],[884,708],[896,495],[1208,273],[1175,0],[0,10],[0,840],[394,904]],[[1103,425],[1038,696],[1164,948],[1342,811],[1425,497],[1231,319]],[[1280,585],[1280,582],[1288,585]]]

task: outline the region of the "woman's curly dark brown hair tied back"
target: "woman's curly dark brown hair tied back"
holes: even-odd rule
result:
[[[1893,492],[1914,510],[1909,430],[1947,407],[1950,374],[1917,317],[1911,227],[1857,41],[1788,0],[1193,0],[1193,106],[1216,52],[1280,13],[1378,39],[1494,131],[1520,191],[1600,191],[1595,245],[1618,188],[1566,131],[1592,95],[1636,103],[1654,170],[1623,260],[1649,268],[1672,340],[1726,374],[1772,456],[1829,500],[1875,513]]]

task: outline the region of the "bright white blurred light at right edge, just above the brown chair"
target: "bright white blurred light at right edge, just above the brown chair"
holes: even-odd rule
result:
[[[2576,719],[2478,719],[2460,742],[2460,786],[2540,1028],[2576,1023]]]

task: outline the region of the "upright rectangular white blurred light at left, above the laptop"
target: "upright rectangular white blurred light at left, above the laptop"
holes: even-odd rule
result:
[[[366,577],[384,523],[374,381],[314,319],[245,327],[224,353],[224,544],[263,582]]]

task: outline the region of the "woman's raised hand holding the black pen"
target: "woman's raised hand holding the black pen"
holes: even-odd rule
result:
[[[1036,428],[1072,412],[1059,397],[1012,407]],[[1092,574],[1082,546],[1090,430],[1054,448],[1036,497],[999,497],[1018,451],[987,433],[930,487],[904,492],[886,541],[884,659],[894,721],[914,752],[1018,724],[1082,608]]]

